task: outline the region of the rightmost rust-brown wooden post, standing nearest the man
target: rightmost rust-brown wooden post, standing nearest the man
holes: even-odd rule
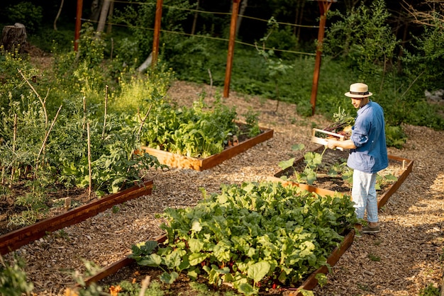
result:
[[[327,13],[330,6],[336,0],[318,0],[319,10],[321,11],[321,18],[319,20],[319,30],[318,30],[318,44],[316,45],[316,59],[314,63],[313,72],[313,84],[311,86],[311,115],[314,115],[316,108],[316,96],[318,95],[318,81],[319,81],[319,71],[321,69],[321,55],[322,55],[322,42],[323,34],[326,28]]]

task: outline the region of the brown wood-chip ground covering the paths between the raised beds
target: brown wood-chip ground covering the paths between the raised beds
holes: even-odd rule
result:
[[[202,91],[211,101],[222,90],[178,81],[168,96],[191,106]],[[151,195],[21,247],[15,254],[26,260],[35,295],[65,295],[74,285],[72,271],[84,273],[85,261],[108,266],[131,254],[133,244],[163,234],[160,224],[164,221],[158,214],[167,207],[196,205],[202,198],[201,188],[218,193],[221,184],[265,181],[281,170],[279,161],[316,149],[318,144],[310,140],[311,128],[330,123],[320,115],[302,118],[296,113],[297,107],[288,103],[277,105],[277,101],[234,92],[223,101],[236,106],[240,120],[250,109],[260,112],[260,126],[272,128],[274,137],[206,171],[148,171],[154,182]],[[411,125],[403,128],[409,140],[403,149],[389,148],[389,154],[413,159],[413,171],[380,211],[382,232],[355,238],[333,266],[328,283],[314,288],[315,295],[404,296],[418,295],[429,285],[440,287],[444,263],[444,132]],[[292,152],[293,144],[305,144],[305,149]]]

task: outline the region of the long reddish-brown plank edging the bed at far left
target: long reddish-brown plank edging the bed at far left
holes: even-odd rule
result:
[[[151,194],[152,181],[146,181],[141,186],[133,186],[119,193],[108,195],[92,203],[81,205],[55,217],[50,217],[35,224],[14,230],[0,237],[0,254],[8,254],[11,251],[24,246],[31,241],[44,237],[48,232],[62,229],[77,224],[99,212],[109,209],[113,205],[124,203],[127,200]]]

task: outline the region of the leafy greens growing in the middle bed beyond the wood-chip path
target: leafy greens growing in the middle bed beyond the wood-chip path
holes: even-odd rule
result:
[[[238,134],[235,108],[220,98],[209,105],[205,93],[192,108],[176,108],[164,98],[152,101],[152,110],[143,125],[141,142],[148,147],[174,154],[205,158],[223,151],[228,137]]]

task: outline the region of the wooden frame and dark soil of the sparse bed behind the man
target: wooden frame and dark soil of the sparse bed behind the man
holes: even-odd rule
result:
[[[322,153],[324,146],[320,146],[313,150],[313,152]],[[332,165],[338,161],[345,161],[348,157],[347,151],[338,151],[327,149],[323,154],[323,164]],[[381,190],[378,190],[378,209],[387,203],[387,200],[405,181],[409,173],[413,168],[414,161],[410,159],[404,159],[399,156],[389,155],[389,166],[387,169],[379,172],[379,175],[384,176],[384,174],[392,174],[396,176],[397,180],[392,181],[392,183],[383,183],[381,185]],[[291,180],[291,175],[294,171],[303,171],[304,166],[304,156],[294,161],[292,167],[284,169],[274,174],[270,177],[270,181],[279,181],[286,185],[299,186],[302,189],[309,190],[310,192],[318,193],[320,195],[333,195],[334,193],[343,193],[351,195],[351,185],[343,181],[340,176],[331,177],[328,176],[326,171],[318,171],[318,178],[312,185],[306,183],[297,183]],[[282,176],[287,176],[288,180],[282,180]]]

